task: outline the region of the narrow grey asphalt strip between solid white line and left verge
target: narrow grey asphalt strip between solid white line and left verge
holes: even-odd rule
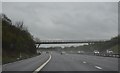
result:
[[[3,71],[34,71],[49,58],[48,54],[3,65]]]

